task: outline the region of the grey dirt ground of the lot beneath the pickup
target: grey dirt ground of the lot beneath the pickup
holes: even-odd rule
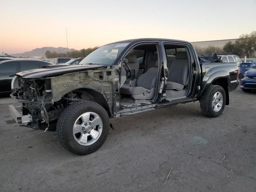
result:
[[[87,156],[66,151],[55,132],[17,126],[9,104],[0,98],[1,192],[256,191],[256,92],[231,92],[218,118],[195,102],[113,119]]]

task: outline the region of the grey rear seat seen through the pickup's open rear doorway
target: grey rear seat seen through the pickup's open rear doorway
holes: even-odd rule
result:
[[[169,68],[166,89],[181,91],[188,84],[188,58],[185,51],[176,52],[176,59],[172,60]]]

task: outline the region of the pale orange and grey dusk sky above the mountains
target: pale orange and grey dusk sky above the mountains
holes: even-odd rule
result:
[[[0,53],[80,50],[132,38],[190,42],[256,30],[256,0],[1,0]],[[251,12],[254,10],[254,12]]]

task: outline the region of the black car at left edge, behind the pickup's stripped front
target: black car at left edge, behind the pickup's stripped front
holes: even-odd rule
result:
[[[49,65],[41,60],[4,60],[0,61],[0,94],[8,94],[11,90],[12,78],[20,71],[26,71]]]

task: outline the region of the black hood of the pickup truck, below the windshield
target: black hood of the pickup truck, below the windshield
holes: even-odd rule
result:
[[[71,72],[79,72],[86,70],[93,70],[99,68],[106,68],[104,65],[96,64],[86,64],[86,65],[46,65],[42,68],[27,70],[18,72],[16,75],[22,78],[42,78],[42,77],[52,77],[62,74],[67,74]]]

